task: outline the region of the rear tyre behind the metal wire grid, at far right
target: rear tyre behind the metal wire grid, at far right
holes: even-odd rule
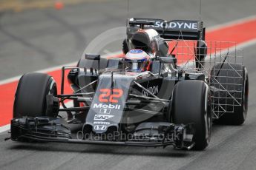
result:
[[[241,125],[246,120],[248,110],[249,79],[247,69],[241,64],[223,64],[222,69],[220,69],[220,67],[221,64],[217,64],[212,69],[211,84],[220,89],[222,89],[222,86],[224,86],[225,89],[240,91],[234,93],[233,95],[236,98],[241,98],[241,106],[234,106],[233,108],[233,100],[222,101],[223,104],[228,105],[226,109],[231,112],[224,113],[224,115],[222,115],[219,119],[214,120],[214,123]],[[220,70],[219,74],[217,75],[217,71],[214,72],[214,70]],[[240,77],[240,75],[242,75],[242,77]],[[226,76],[234,78],[226,78]],[[214,81],[220,82],[222,86],[216,84],[216,82]],[[237,86],[233,84],[241,84],[242,86]]]

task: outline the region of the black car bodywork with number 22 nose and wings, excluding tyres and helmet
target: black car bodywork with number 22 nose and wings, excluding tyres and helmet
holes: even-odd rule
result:
[[[157,27],[158,22],[164,26],[171,23],[140,18],[128,21],[128,38],[139,27],[154,27],[165,39],[204,40],[205,29],[201,21],[180,21],[197,25],[193,29]],[[197,55],[198,58],[202,56]],[[84,61],[91,62],[91,67],[62,67],[61,94],[47,95],[47,112],[66,112],[68,118],[13,118],[12,140],[154,147],[173,145],[180,149],[194,146],[193,124],[174,124],[170,119],[171,95],[177,82],[205,81],[203,74],[178,72],[174,69],[177,67],[176,58],[166,56],[154,58],[151,70],[146,72],[126,72],[122,58],[85,55],[81,62]],[[73,94],[63,93],[67,69],[70,69],[68,79]],[[66,100],[72,100],[74,106],[66,106]]]

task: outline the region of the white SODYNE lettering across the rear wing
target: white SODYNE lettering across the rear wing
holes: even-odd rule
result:
[[[163,27],[163,22],[157,21],[154,27]],[[167,23],[166,27],[175,28],[175,29],[197,30],[198,23],[197,22],[169,22]]]

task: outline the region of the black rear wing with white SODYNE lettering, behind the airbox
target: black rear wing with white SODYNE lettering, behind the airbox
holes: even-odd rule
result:
[[[206,28],[203,21],[172,20],[154,18],[129,18],[127,23],[128,37],[139,28],[156,30],[164,39],[205,40]]]

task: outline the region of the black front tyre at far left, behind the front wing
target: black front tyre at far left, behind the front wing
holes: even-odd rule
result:
[[[13,118],[56,117],[53,113],[46,114],[46,95],[49,94],[57,95],[56,82],[50,75],[37,72],[22,75],[16,90]]]

